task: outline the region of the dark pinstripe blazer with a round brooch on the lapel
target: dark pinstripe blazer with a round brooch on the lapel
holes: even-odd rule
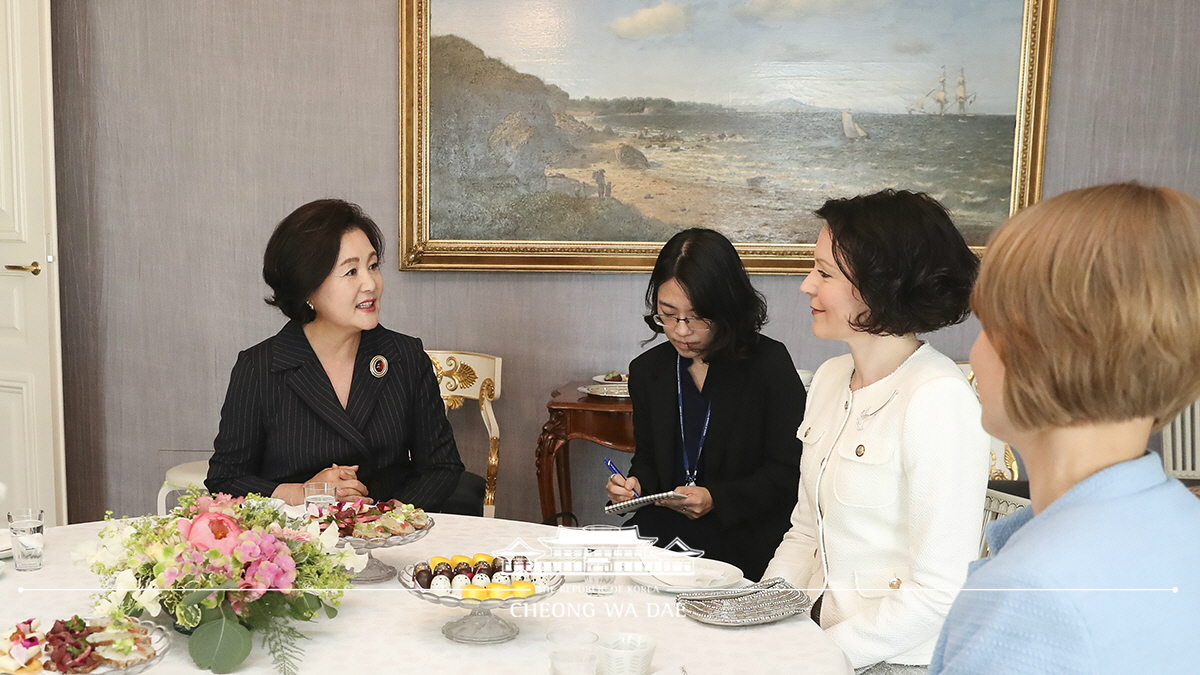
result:
[[[346,408],[299,323],[238,354],[212,446],[204,484],[236,496],[356,464],[371,497],[436,509],[463,471],[421,341],[382,325],[362,331]]]

